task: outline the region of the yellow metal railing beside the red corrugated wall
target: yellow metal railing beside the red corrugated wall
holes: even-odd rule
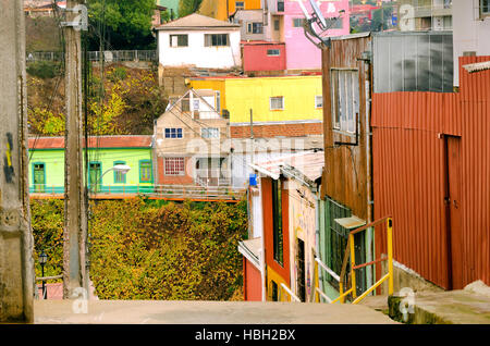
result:
[[[379,224],[382,224],[383,222],[385,222],[385,231],[387,231],[387,247],[388,247],[387,256],[380,257],[370,262],[356,264],[356,258],[355,258],[355,251],[354,251],[354,235],[357,233],[364,232],[366,230],[369,230],[371,227],[375,227]],[[360,269],[360,268],[368,267],[368,265],[373,265],[373,264],[382,262],[382,261],[388,261],[388,273],[385,275],[383,275],[380,280],[378,280],[369,288],[367,288],[366,292],[364,292],[362,295],[359,295],[357,297],[356,269]],[[344,291],[344,277],[345,277],[345,272],[347,270],[347,263],[351,264],[351,274],[350,274],[351,288],[348,288],[347,291]],[[393,295],[393,222],[392,222],[392,219],[390,217],[379,219],[375,222],[371,222],[367,225],[356,228],[348,234],[347,247],[345,248],[344,259],[342,262],[342,270],[341,270],[340,275],[335,275],[335,273],[331,273],[330,272],[331,269],[326,267],[319,259],[316,259],[315,264],[316,264],[315,272],[317,274],[317,277],[318,277],[318,265],[321,265],[324,270],[327,270],[327,272],[330,273],[330,275],[332,275],[333,279],[335,279],[339,282],[339,297],[334,300],[331,300],[330,298],[328,298],[327,295],[324,293],[322,293],[318,287],[316,289],[316,293],[318,295],[321,295],[330,304],[334,304],[338,301],[341,304],[344,304],[345,298],[348,295],[351,295],[353,298],[352,304],[357,304],[360,300],[363,300],[367,295],[369,295],[372,291],[375,291],[377,287],[379,287],[387,280],[388,280],[388,294],[390,296]],[[319,297],[317,296],[317,301],[318,301],[318,298]]]

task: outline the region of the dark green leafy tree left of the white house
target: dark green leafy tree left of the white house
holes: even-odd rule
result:
[[[89,49],[99,49],[99,39],[106,37],[107,50],[151,49],[151,16],[155,0],[89,0]]]

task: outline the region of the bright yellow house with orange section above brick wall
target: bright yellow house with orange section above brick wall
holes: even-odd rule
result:
[[[320,75],[275,77],[203,77],[188,79],[194,89],[215,90],[217,109],[230,123],[321,121]]]

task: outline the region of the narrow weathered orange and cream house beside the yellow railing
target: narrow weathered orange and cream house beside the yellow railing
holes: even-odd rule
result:
[[[261,292],[262,300],[314,301],[316,196],[323,152],[282,156],[250,166],[258,175],[249,186],[250,239],[238,247],[247,279],[245,297]]]

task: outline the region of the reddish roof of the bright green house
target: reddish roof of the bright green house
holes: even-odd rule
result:
[[[82,140],[85,146],[85,140]],[[151,136],[100,136],[88,139],[89,148],[149,148]],[[29,149],[63,149],[64,137],[29,138]]]

